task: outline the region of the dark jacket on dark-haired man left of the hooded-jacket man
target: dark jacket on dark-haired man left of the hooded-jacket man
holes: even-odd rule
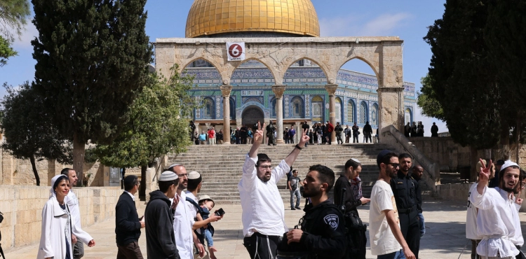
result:
[[[123,192],[115,206],[115,235],[117,246],[126,246],[139,241],[141,223],[132,197]]]

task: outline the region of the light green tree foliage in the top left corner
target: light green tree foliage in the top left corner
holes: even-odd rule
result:
[[[9,57],[17,55],[11,43],[22,35],[30,14],[27,0],[0,1],[0,67],[7,64]]]

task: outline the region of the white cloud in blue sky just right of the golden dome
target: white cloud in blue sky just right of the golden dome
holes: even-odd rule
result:
[[[372,20],[360,15],[320,20],[321,36],[386,36],[403,27],[409,13],[379,15]]]

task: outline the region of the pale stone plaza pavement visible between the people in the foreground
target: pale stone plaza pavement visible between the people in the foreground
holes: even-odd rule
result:
[[[241,223],[241,205],[217,204],[215,209],[222,207],[227,212],[224,218],[213,223],[215,228],[214,244],[219,250],[216,253],[218,259],[245,259],[249,258],[243,246],[243,225]],[[441,200],[425,201],[422,205],[424,217],[426,218],[426,235],[422,238],[419,258],[470,258],[471,242],[465,238],[466,204]],[[285,205],[285,208],[287,206]],[[144,205],[138,209],[139,215],[144,214]],[[362,206],[359,210],[360,216],[367,223],[369,218],[369,207]],[[285,209],[285,221],[289,228],[297,224],[303,211],[291,211]],[[522,222],[522,235],[526,232],[526,214],[520,213]],[[85,246],[83,258],[116,258],[115,223],[109,219],[85,228],[96,241],[96,246],[88,248]],[[367,223],[368,225],[368,223]],[[368,233],[367,233],[368,239]],[[144,258],[146,258],[146,241],[143,235],[140,238],[140,247]],[[6,253],[6,258],[36,258],[38,244],[13,249]],[[462,253],[463,252],[463,253]],[[461,254],[462,253],[462,254]],[[370,254],[370,245],[367,242],[367,258],[376,258]]]

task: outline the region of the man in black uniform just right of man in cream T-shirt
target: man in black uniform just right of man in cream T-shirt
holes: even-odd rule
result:
[[[411,155],[407,153],[398,156],[400,170],[395,178],[391,179],[391,188],[393,189],[398,208],[398,217],[400,218],[400,230],[407,241],[407,246],[418,258],[420,250],[420,227],[417,209],[416,189],[418,182],[412,179],[408,174],[412,164]]]

